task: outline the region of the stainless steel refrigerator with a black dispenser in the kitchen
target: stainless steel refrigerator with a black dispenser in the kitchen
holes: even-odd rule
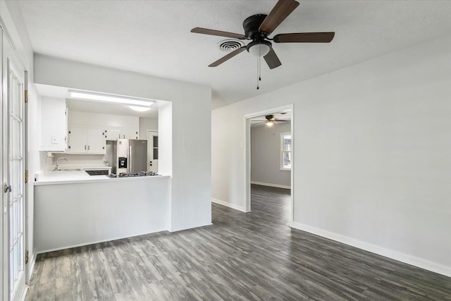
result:
[[[113,142],[112,173],[147,171],[147,140],[118,139]]]

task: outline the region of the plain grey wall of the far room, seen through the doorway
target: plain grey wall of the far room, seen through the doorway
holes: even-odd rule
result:
[[[278,123],[272,128],[251,128],[251,183],[289,188],[291,171],[280,170],[280,134],[290,133],[291,123]]]

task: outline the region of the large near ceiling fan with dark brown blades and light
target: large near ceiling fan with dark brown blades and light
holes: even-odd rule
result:
[[[278,25],[280,25],[280,23],[282,23],[298,5],[299,2],[295,0],[279,0],[267,16],[264,14],[250,16],[242,24],[245,35],[220,30],[210,30],[201,27],[195,27],[191,32],[252,40],[252,42],[249,42],[246,46],[235,49],[230,52],[230,54],[211,63],[209,67],[219,66],[221,63],[233,58],[233,56],[247,50],[253,56],[263,57],[268,64],[268,67],[273,69],[280,66],[282,63],[280,63],[276,52],[274,52],[273,45],[269,41],[273,41],[274,43],[328,43],[332,41],[335,35],[335,32],[297,32],[283,33],[275,35],[273,38],[268,37],[268,35],[271,35]]]

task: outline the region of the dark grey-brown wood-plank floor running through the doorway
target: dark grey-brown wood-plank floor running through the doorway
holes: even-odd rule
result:
[[[26,300],[451,300],[451,278],[290,229],[289,199],[252,185],[213,226],[42,254]]]

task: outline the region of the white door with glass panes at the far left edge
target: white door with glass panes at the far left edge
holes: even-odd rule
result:
[[[5,181],[3,208],[7,228],[3,240],[4,245],[6,240],[7,248],[3,250],[7,250],[7,257],[4,256],[3,260],[6,260],[4,266],[8,266],[8,284],[5,285],[8,287],[8,300],[15,301],[20,300],[25,292],[25,71],[5,36],[2,65],[2,121],[6,121],[3,122],[2,142]]]

